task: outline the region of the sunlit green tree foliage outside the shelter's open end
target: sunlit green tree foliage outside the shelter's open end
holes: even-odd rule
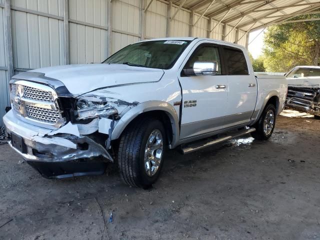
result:
[[[320,17],[301,15],[290,20]],[[296,65],[319,65],[320,21],[273,25],[264,33],[266,71],[287,72]]]

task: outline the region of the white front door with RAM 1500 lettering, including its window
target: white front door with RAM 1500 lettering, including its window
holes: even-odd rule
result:
[[[227,107],[228,85],[221,65],[221,48],[213,43],[195,46],[183,69],[192,69],[194,62],[216,62],[217,72],[178,77],[182,87],[180,139],[191,138],[223,128]]]

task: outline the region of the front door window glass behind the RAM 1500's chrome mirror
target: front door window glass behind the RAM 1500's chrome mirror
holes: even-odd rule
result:
[[[216,46],[202,46],[192,53],[184,68],[192,68],[195,61],[218,62],[218,74],[221,74],[219,49]]]

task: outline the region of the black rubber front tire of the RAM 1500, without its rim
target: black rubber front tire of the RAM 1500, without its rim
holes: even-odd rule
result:
[[[144,169],[145,147],[149,135],[156,129],[162,134],[162,158],[155,174],[148,176]],[[119,140],[117,161],[122,180],[126,184],[148,188],[157,180],[163,165],[165,139],[163,124],[158,119],[151,117],[139,118],[124,129]]]

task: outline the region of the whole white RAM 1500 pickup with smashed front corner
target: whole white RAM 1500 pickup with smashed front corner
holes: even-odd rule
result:
[[[13,76],[3,121],[9,144],[45,177],[101,174],[116,161],[125,183],[148,187],[167,147],[268,139],[286,92],[284,76],[254,76],[240,45],[160,38],[102,63]]]

